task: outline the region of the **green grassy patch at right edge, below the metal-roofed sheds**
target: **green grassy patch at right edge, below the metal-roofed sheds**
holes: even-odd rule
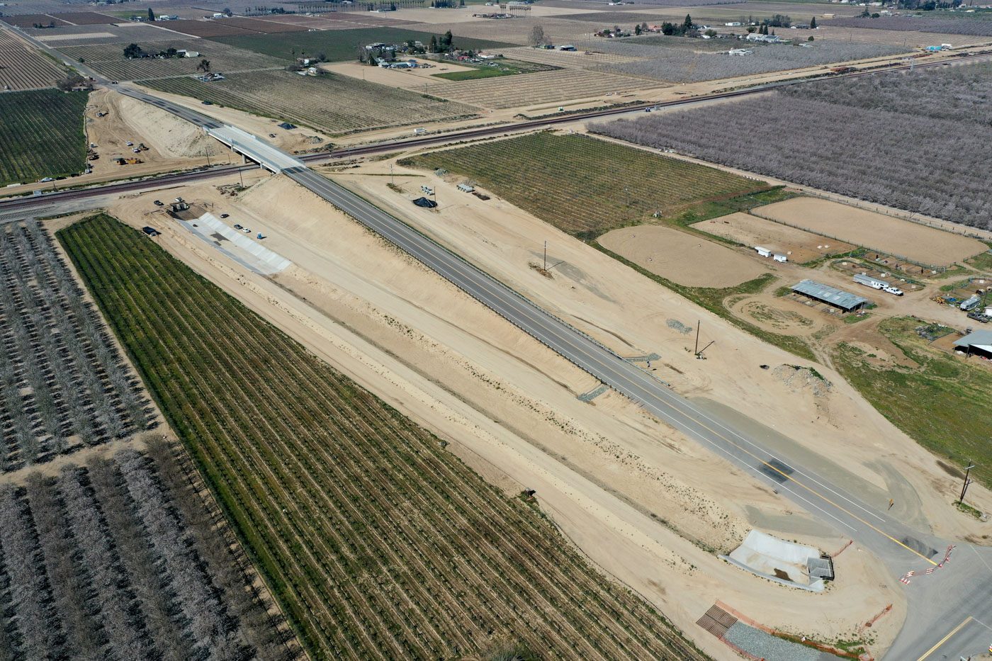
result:
[[[992,408],[992,370],[927,345],[915,331],[919,320],[895,318],[881,331],[917,362],[918,368],[877,367],[862,351],[840,344],[834,364],[844,378],[896,427],[953,463],[992,463],[992,445],[982,421]],[[986,485],[992,479],[979,472]]]

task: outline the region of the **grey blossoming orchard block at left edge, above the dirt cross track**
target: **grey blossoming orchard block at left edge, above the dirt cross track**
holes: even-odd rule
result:
[[[0,470],[147,429],[141,384],[38,223],[0,226],[0,274]]]

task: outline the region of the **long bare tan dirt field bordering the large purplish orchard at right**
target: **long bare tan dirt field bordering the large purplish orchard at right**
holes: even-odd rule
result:
[[[947,266],[988,250],[973,238],[817,198],[792,198],[753,211],[772,220],[914,262]]]

